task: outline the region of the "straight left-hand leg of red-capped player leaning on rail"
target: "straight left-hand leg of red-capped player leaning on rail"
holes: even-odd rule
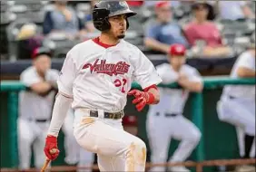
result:
[[[151,162],[153,164],[165,163],[170,145],[170,130],[172,125],[164,114],[149,113],[146,121],[146,130],[151,148]],[[164,171],[165,167],[152,167],[150,171]]]

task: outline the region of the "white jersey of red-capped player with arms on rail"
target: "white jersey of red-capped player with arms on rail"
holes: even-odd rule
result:
[[[182,65],[181,71],[175,72],[171,64],[163,63],[156,67],[157,72],[162,78],[163,84],[169,84],[178,81],[179,74],[182,73],[188,77],[190,81],[202,82],[202,77],[199,72],[192,66],[187,64]],[[159,88],[160,102],[157,105],[151,106],[154,112],[182,114],[189,96],[189,91],[183,89]]]

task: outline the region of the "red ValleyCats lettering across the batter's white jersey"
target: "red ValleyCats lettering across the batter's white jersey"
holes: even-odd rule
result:
[[[124,74],[129,71],[130,65],[126,62],[117,62],[117,63],[106,63],[106,60],[97,59],[94,64],[86,63],[83,66],[83,69],[90,68],[91,73],[104,73],[110,76]],[[99,62],[99,63],[98,63]]]

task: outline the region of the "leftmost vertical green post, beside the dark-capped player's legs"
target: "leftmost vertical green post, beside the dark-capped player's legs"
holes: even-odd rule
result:
[[[18,148],[17,148],[17,114],[18,114],[18,93],[11,91],[8,94],[8,118],[9,118],[9,139],[10,139],[10,164],[18,167]]]

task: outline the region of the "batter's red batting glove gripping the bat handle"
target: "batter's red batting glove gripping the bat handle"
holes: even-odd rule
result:
[[[60,150],[57,146],[57,138],[54,136],[47,136],[44,147],[45,156],[50,160],[54,160],[59,156],[59,153]]]

